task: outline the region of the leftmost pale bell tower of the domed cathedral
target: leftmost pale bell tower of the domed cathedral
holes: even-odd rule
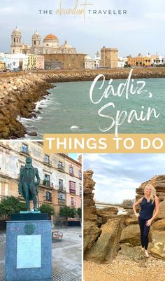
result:
[[[11,54],[22,53],[21,32],[15,27],[11,34]]]

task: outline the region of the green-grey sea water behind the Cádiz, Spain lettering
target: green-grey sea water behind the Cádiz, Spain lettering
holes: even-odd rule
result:
[[[107,128],[110,124],[110,119],[99,116],[98,110],[106,103],[113,102],[115,109],[108,108],[104,113],[115,118],[117,110],[128,113],[132,109],[136,110],[137,114],[141,114],[143,106],[144,113],[147,113],[148,107],[155,108],[159,113],[159,118],[150,116],[149,121],[136,121],[131,123],[125,121],[119,128],[119,133],[164,133],[165,132],[165,78],[148,78],[134,79],[134,81],[145,81],[145,89],[152,92],[152,98],[148,95],[131,95],[129,100],[124,95],[116,97],[110,95],[107,100],[103,99],[99,104],[92,104],[89,99],[89,89],[92,81],[85,82],[66,82],[54,83],[55,88],[49,90],[50,95],[36,104],[41,111],[36,118],[26,119],[21,118],[22,123],[27,128],[27,132],[38,133],[37,139],[43,138],[43,133],[101,133],[99,128]],[[125,83],[126,80],[114,80],[113,87],[117,91],[120,83]],[[99,99],[101,92],[99,86],[101,81],[97,82],[97,87],[94,89],[94,97]],[[108,86],[108,81],[105,82]],[[106,88],[106,85],[104,85]],[[113,133],[113,128],[106,133]],[[33,138],[33,137],[30,137]]]

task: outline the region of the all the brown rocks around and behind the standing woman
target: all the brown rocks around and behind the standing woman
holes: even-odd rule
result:
[[[94,204],[93,172],[87,170],[84,174],[84,246],[85,259],[96,263],[108,263],[120,252],[132,256],[139,261],[145,261],[141,252],[140,228],[138,218],[132,210],[127,214],[117,215],[116,207],[96,210]],[[162,202],[159,204],[159,214],[150,228],[149,251],[157,259],[165,260],[165,175],[159,175],[141,184],[136,189],[136,199],[143,196],[143,190],[152,183]]]

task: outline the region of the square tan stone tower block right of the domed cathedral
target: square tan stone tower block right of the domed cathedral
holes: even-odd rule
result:
[[[101,48],[101,60],[103,60],[103,67],[117,68],[117,57],[118,50],[116,48]]]

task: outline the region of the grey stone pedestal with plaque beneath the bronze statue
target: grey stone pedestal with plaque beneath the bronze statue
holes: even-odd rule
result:
[[[48,214],[13,214],[7,221],[5,281],[52,281]]]

